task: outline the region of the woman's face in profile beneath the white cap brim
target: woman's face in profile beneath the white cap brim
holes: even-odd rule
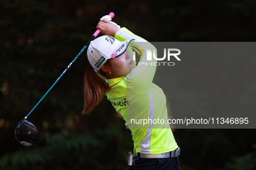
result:
[[[130,51],[126,50],[122,55],[110,60],[112,76],[126,76],[135,67]]]

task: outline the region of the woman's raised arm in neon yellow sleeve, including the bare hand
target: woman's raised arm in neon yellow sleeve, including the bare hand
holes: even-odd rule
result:
[[[135,39],[133,43],[131,43],[131,46],[134,46],[133,50],[139,49],[140,47],[146,47],[148,50],[153,51],[154,46],[147,42],[145,39],[133,34],[131,31],[129,31],[126,28],[117,28],[116,25],[113,23],[102,20],[98,23],[97,29],[100,29],[100,31],[104,35],[110,35],[114,38],[117,38],[119,41],[125,41],[127,39]],[[136,49],[135,49],[136,47]],[[132,89],[133,91],[144,94],[148,93],[149,87],[152,83],[152,80],[155,76],[156,72],[156,65],[152,64],[156,62],[156,60],[152,57],[152,60],[147,61],[147,55],[152,55],[147,53],[145,49],[139,49],[140,52],[138,53],[140,56],[140,60],[138,63],[138,66],[135,67],[135,69],[130,72],[126,79],[126,85]],[[132,51],[131,51],[132,52]],[[136,50],[136,52],[138,52]],[[157,54],[157,53],[156,53]]]

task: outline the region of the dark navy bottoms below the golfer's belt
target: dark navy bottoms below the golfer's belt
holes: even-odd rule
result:
[[[180,170],[178,157],[138,158],[134,166],[128,165],[127,170]]]

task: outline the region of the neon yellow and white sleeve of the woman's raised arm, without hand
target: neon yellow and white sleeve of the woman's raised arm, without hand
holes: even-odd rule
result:
[[[140,60],[138,65],[126,76],[126,87],[129,87],[138,94],[149,93],[156,72],[156,60],[152,56],[153,49],[156,51],[156,48],[148,41],[133,34],[126,28],[119,29],[115,38],[119,41],[135,39],[130,46],[137,52]],[[131,53],[133,54],[133,51]],[[151,60],[147,60],[148,58],[151,58]]]

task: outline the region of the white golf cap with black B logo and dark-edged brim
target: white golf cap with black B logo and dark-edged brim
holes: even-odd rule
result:
[[[104,35],[91,41],[87,50],[87,57],[94,71],[98,71],[107,60],[122,55],[134,40],[121,42],[116,38]]]

